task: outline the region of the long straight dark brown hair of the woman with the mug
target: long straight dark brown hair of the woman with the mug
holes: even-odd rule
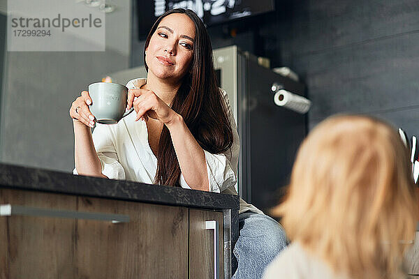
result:
[[[193,10],[176,8],[168,10],[154,23],[145,41],[147,49],[159,23],[172,13],[187,15],[195,24],[196,36],[193,43],[193,59],[189,72],[183,77],[171,108],[182,115],[198,144],[210,153],[222,153],[233,144],[233,131],[228,118],[226,103],[216,85],[212,46],[205,25]],[[144,51],[145,61],[145,51]],[[147,63],[145,69],[148,72]],[[181,170],[172,144],[169,130],[163,126],[157,154],[157,172],[154,183],[180,187]]]

